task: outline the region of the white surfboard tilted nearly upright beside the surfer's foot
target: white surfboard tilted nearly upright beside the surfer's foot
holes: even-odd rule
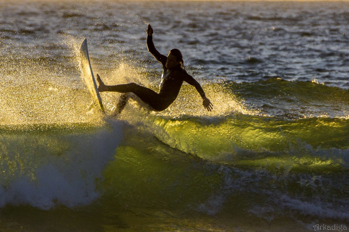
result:
[[[90,57],[88,56],[87,39],[85,39],[81,44],[80,59],[81,59],[81,71],[84,76],[88,91],[90,92],[94,103],[98,106],[100,110],[104,111],[102,98],[99,95],[97,82],[92,72]]]

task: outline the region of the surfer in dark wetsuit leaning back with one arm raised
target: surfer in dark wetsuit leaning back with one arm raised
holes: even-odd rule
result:
[[[137,85],[136,83],[128,83],[122,85],[108,86],[103,83],[97,74],[97,82],[99,84],[99,92],[113,91],[119,93],[134,93],[143,102],[148,104],[154,111],[163,111],[171,105],[177,98],[183,81],[194,86],[202,98],[202,104],[208,111],[213,109],[213,104],[206,97],[205,92],[191,75],[184,69],[184,61],[181,52],[178,49],[170,50],[168,56],[159,53],[153,43],[153,28],[148,24],[147,29],[147,48],[148,51],[162,64],[163,73],[160,83],[160,91],[148,89]],[[117,106],[117,112],[120,113],[127,103],[127,95],[122,94]]]

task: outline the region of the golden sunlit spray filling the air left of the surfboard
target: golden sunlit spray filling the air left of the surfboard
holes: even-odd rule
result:
[[[62,71],[59,65],[55,67],[44,58],[13,55],[2,59],[1,127],[101,123],[103,114],[91,106],[92,100],[82,78],[72,85],[71,75],[74,72],[79,75],[80,69],[77,58],[74,59],[70,62],[75,69],[73,72]]]

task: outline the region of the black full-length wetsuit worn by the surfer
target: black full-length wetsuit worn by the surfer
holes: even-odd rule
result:
[[[195,86],[201,97],[205,96],[205,92],[200,84],[189,75],[180,64],[172,69],[166,68],[167,57],[159,53],[153,43],[153,37],[147,37],[148,51],[162,64],[163,73],[160,84],[160,91],[148,89],[146,87],[137,85],[136,83],[129,83],[124,85],[108,86],[109,91],[116,91],[119,93],[131,92],[137,95],[143,102],[147,103],[155,111],[163,111],[177,98],[180,87],[183,81]]]

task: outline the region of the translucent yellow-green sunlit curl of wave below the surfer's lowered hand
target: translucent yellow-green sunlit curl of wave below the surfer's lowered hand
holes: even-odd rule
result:
[[[160,141],[188,154],[242,167],[340,171],[349,168],[347,119],[283,119],[237,114],[205,120],[141,122]]]

